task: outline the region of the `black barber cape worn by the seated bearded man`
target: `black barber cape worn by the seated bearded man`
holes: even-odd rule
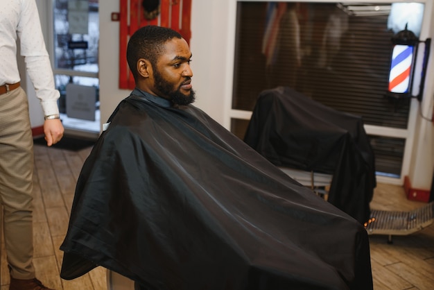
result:
[[[148,289],[372,289],[367,232],[207,114],[134,89],[78,178],[60,276]]]

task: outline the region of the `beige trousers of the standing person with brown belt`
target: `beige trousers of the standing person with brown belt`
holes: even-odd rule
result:
[[[35,277],[33,267],[33,137],[21,87],[0,95],[0,203],[10,275]]]

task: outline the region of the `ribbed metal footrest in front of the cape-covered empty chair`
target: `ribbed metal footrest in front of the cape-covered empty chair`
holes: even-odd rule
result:
[[[409,212],[372,210],[365,223],[368,234],[407,235],[433,223],[434,202]]]

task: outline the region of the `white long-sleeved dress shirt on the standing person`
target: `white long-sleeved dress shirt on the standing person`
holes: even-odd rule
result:
[[[44,114],[59,114],[57,100],[60,93],[54,86],[35,0],[0,0],[0,85],[20,81],[17,37]]]

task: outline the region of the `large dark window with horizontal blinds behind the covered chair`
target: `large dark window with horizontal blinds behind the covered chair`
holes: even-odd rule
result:
[[[419,33],[424,4],[413,4],[411,29]],[[252,111],[263,89],[288,86],[363,117],[365,125],[406,130],[410,101],[385,97],[390,40],[397,33],[392,6],[238,1],[232,110]],[[403,30],[405,23],[397,26]],[[248,121],[235,114],[231,120],[232,132],[243,139]],[[372,135],[371,143],[379,174],[399,178],[405,137]]]

